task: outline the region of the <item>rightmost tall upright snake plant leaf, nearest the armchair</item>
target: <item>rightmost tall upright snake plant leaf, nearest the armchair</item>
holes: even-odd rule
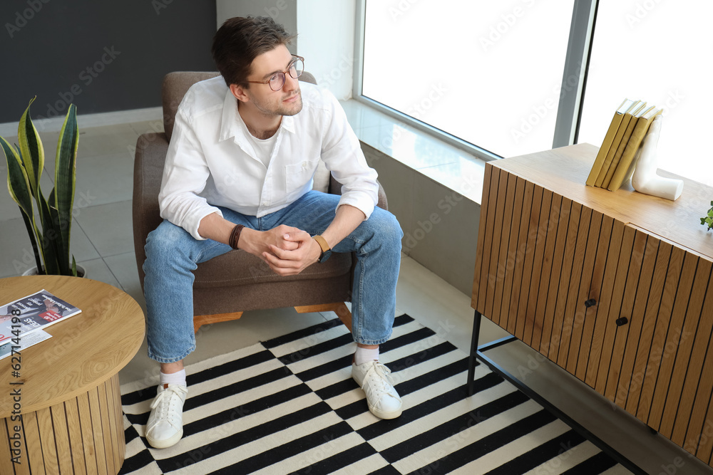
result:
[[[54,193],[51,204],[58,212],[57,229],[61,234],[58,239],[58,259],[61,265],[69,271],[69,239],[72,229],[72,207],[74,206],[74,190],[76,187],[76,159],[79,145],[77,131],[77,108],[70,105],[64,123],[59,132],[57,157],[54,167]],[[76,275],[76,274],[75,274]]]

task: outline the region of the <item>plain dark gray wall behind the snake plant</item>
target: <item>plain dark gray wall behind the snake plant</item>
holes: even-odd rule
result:
[[[0,122],[156,107],[170,71],[212,71],[212,1],[4,0]]]

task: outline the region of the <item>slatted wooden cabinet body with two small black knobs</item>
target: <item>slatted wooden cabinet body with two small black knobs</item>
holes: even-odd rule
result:
[[[713,188],[587,187],[596,153],[488,162],[472,306],[710,465]]]

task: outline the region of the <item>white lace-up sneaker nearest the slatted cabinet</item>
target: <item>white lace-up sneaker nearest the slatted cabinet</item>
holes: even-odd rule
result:
[[[396,419],[401,415],[401,397],[391,385],[389,375],[391,370],[378,361],[352,363],[352,377],[364,390],[369,411],[380,419]]]

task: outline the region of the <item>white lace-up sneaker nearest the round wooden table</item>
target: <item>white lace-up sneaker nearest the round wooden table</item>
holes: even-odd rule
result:
[[[185,386],[158,387],[146,424],[146,439],[151,447],[165,449],[183,437],[183,403],[186,395],[188,390]]]

